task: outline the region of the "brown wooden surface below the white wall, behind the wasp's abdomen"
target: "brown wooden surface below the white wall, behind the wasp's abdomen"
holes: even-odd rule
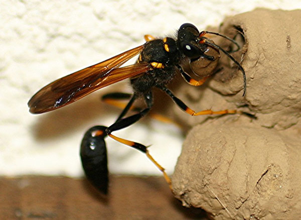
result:
[[[183,207],[161,177],[110,176],[107,196],[85,179],[0,178],[0,219],[206,219]]]

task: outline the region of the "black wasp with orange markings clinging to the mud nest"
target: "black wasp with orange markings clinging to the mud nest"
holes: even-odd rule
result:
[[[177,73],[180,73],[184,80],[193,86],[202,85],[205,79],[212,74],[217,66],[217,62],[220,58],[219,51],[222,51],[242,72],[244,80],[243,95],[245,94],[245,72],[242,66],[230,55],[230,52],[234,51],[224,50],[212,40],[205,37],[206,34],[214,34],[226,38],[238,47],[237,50],[240,48],[233,39],[230,39],[227,36],[209,31],[199,32],[194,25],[189,23],[185,23],[180,27],[176,39],[171,37],[156,39],[150,35],[145,35],[145,44],[57,79],[40,89],[28,102],[30,112],[33,114],[40,114],[53,111],[54,109],[70,104],[93,91],[129,78],[133,89],[132,95],[112,93],[106,96],[107,99],[129,98],[128,103],[123,108],[123,111],[115,123],[109,127],[93,127],[86,132],[83,138],[81,158],[85,173],[88,179],[90,179],[96,187],[103,192],[107,191],[108,172],[106,167],[107,158],[104,138],[109,136],[120,143],[145,153],[164,173],[167,182],[171,186],[171,180],[165,173],[164,168],[149,155],[146,146],[116,137],[112,135],[112,132],[134,124],[150,111],[154,103],[152,89],[155,87],[170,96],[184,112],[191,116],[235,113],[235,111],[228,110],[219,112],[213,112],[211,110],[195,112],[167,88],[167,85],[173,81]],[[120,67],[136,55],[139,56],[135,64]],[[192,70],[195,72],[199,70],[194,69],[194,63],[204,64],[203,71],[205,72],[205,77],[200,80],[192,78],[182,68],[181,63],[183,60],[188,60]],[[133,102],[138,98],[144,100],[145,108],[126,117],[125,115],[131,109]]]

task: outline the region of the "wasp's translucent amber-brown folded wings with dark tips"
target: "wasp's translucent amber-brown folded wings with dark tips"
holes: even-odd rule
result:
[[[146,72],[149,66],[145,62],[118,68],[139,54],[143,48],[144,46],[141,45],[51,82],[29,100],[29,111],[34,114],[49,112],[70,104],[97,89]]]

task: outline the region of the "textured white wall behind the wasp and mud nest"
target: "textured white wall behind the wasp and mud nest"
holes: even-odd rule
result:
[[[79,145],[84,132],[94,125],[110,125],[119,112],[99,97],[122,86],[130,91],[121,83],[54,112],[31,115],[27,101],[42,86],[143,44],[144,34],[171,34],[186,22],[201,30],[256,7],[301,8],[300,1],[287,2],[2,1],[0,175],[82,175]],[[176,128],[151,121],[115,134],[152,144],[153,156],[169,173],[173,171],[183,140]],[[107,145],[111,172],[160,174],[140,152],[109,139]]]

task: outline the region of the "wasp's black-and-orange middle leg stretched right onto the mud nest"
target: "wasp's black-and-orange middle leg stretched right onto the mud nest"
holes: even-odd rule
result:
[[[168,88],[162,87],[161,88],[163,91],[165,91],[173,100],[174,102],[187,114],[191,115],[191,116],[199,116],[199,115],[224,115],[224,114],[235,114],[237,113],[236,110],[222,110],[222,111],[218,111],[218,112],[213,112],[211,110],[205,110],[205,111],[201,111],[201,112],[195,112],[193,111],[190,107],[188,107],[181,99],[179,99],[178,97],[176,97],[171,90],[169,90]]]

